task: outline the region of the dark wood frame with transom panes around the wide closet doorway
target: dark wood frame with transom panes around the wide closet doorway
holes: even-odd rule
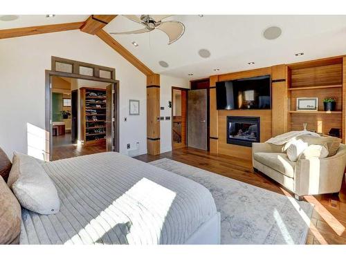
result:
[[[55,70],[55,61],[62,61],[63,63],[70,62],[73,66],[72,73],[66,73],[66,72],[60,72]],[[89,75],[80,75],[78,74],[78,68],[79,66],[87,66],[89,68],[93,68],[94,72],[93,76]],[[111,72],[111,78],[103,78],[100,77],[99,71],[100,69],[106,70]],[[69,77],[74,79],[84,79],[84,80],[91,80],[91,81],[101,81],[106,82],[114,85],[114,88],[116,90],[116,113],[114,117],[116,118],[115,121],[115,139],[116,139],[116,145],[115,145],[115,151],[119,151],[119,81],[115,79],[115,69],[114,68],[108,68],[105,66],[98,66],[95,64],[87,64],[80,61],[74,61],[71,59],[62,59],[59,57],[52,57],[52,70],[46,70],[46,79],[45,79],[45,128],[46,128],[46,161],[50,161],[52,159],[52,148],[53,148],[53,138],[51,137],[53,135],[52,132],[52,88],[51,88],[51,77]]]

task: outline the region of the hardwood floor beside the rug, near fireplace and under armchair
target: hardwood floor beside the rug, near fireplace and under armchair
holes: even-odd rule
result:
[[[184,164],[218,173],[235,180],[253,184],[269,191],[293,196],[282,186],[262,173],[254,173],[251,161],[227,155],[212,155],[194,148],[179,148],[160,155],[139,155],[135,157],[143,162],[167,157]],[[307,244],[346,244],[346,184],[339,195],[306,195],[304,200],[313,204]]]

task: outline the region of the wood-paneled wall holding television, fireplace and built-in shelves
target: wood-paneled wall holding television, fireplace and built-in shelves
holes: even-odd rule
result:
[[[215,89],[217,81],[260,75],[271,75],[271,110],[217,111]],[[336,87],[338,84],[340,86]],[[290,88],[298,87],[307,89],[290,90]],[[302,96],[319,97],[320,112],[296,113],[296,98]],[[325,97],[336,97],[336,112],[322,112],[322,100]],[[342,126],[343,143],[345,143],[346,57],[330,57],[210,76],[210,152],[251,159],[250,147],[227,144],[226,117],[228,115],[260,117],[261,142],[287,131],[302,130],[302,124],[307,122],[309,129],[323,133],[328,133],[330,128]]]

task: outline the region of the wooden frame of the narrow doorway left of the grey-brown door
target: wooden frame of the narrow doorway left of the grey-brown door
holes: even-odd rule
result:
[[[173,93],[174,90],[181,90],[181,93],[185,93],[185,102],[183,104],[183,94],[181,95],[181,143],[175,143],[173,141],[174,133],[173,133],[173,126],[174,126],[174,116],[173,116],[173,110],[174,110],[174,101],[173,101]],[[187,146],[188,143],[188,88],[181,88],[172,86],[171,90],[171,99],[172,99],[172,111],[171,111],[171,135],[172,135],[172,149],[177,148],[183,148]]]

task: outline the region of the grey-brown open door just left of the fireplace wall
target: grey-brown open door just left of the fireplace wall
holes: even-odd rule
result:
[[[188,91],[188,146],[208,150],[208,90]]]

